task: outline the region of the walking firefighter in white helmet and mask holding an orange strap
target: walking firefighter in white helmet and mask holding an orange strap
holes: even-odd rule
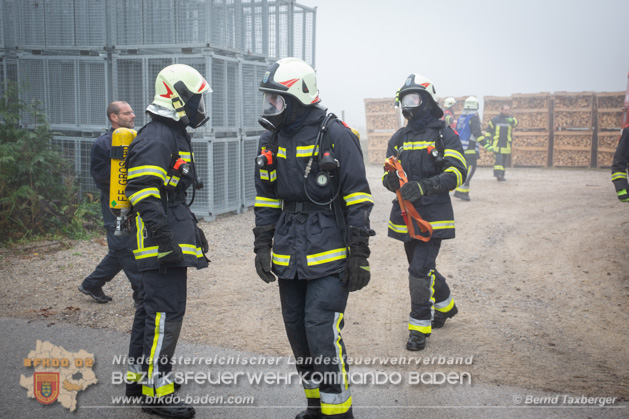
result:
[[[397,195],[388,235],[404,242],[409,263],[409,351],[424,349],[432,328],[442,327],[458,312],[436,260],[441,241],[454,238],[449,192],[465,182],[467,167],[458,135],[439,119],[443,111],[435,93],[434,85],[424,76],[411,74],[406,79],[400,103],[408,123],[389,140],[387,156],[392,157],[387,159],[382,178],[384,186]],[[393,157],[397,171],[388,167]],[[417,216],[409,218],[413,212]],[[423,234],[414,234],[417,227]]]

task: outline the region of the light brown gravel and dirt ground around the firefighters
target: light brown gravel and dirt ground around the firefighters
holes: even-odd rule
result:
[[[368,167],[372,282],[346,311],[352,357],[411,355],[407,265],[401,243],[386,237],[393,195],[380,170]],[[437,267],[460,314],[419,355],[473,356],[476,382],[629,400],[629,206],[608,170],[508,169],[507,179],[481,168],[472,201],[455,200],[457,238],[443,243]],[[182,339],[289,355],[277,285],[253,267],[253,211],[201,225],[212,263],[190,272]],[[124,275],[105,290],[110,304],[76,290],[104,255],[102,239],[46,249],[0,252],[0,316],[129,331]]]

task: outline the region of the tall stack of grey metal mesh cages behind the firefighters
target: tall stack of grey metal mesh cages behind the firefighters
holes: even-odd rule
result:
[[[268,65],[293,56],[315,67],[316,8],[294,0],[0,0],[0,22],[0,94],[17,82],[20,99],[41,104],[82,194],[96,192],[90,150],[108,129],[108,103],[128,102],[139,129],[161,69],[204,75],[210,121],[190,131],[204,184],[191,208],[203,219],[255,201]]]

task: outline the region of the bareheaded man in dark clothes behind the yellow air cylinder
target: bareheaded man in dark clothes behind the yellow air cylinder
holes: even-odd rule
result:
[[[115,236],[116,216],[109,209],[109,178],[111,173],[111,136],[118,128],[133,129],[135,114],[127,102],[111,102],[107,106],[107,118],[111,128],[92,144],[92,160],[90,173],[100,190],[100,206],[107,231],[108,252],[79,285],[79,291],[89,295],[98,303],[105,304],[112,300],[103,291],[103,285],[114,279],[118,272],[124,270],[133,289],[133,301],[137,305],[138,288],[140,287],[140,271],[135,263],[131,247],[133,240],[130,236]]]

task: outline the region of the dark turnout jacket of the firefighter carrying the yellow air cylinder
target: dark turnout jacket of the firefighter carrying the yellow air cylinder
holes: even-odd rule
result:
[[[190,165],[190,173],[181,178],[171,171],[178,157]],[[184,256],[182,262],[172,266],[207,267],[197,219],[185,204],[186,190],[196,178],[192,144],[185,128],[166,119],[149,122],[131,142],[127,164],[125,193],[137,212],[133,254],[140,270],[160,268],[158,245],[151,237],[150,227],[164,217],[173,232],[173,242],[179,245]]]

